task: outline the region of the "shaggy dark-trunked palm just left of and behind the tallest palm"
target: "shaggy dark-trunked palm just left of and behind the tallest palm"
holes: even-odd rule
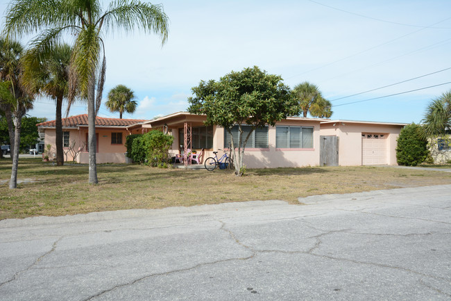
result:
[[[39,59],[41,58],[41,59]],[[62,145],[62,100],[67,98],[69,86],[69,63],[71,47],[56,44],[51,51],[36,54],[27,51],[24,58],[23,83],[28,90],[40,91],[56,101],[56,165],[64,165]],[[70,103],[67,113],[69,114]]]

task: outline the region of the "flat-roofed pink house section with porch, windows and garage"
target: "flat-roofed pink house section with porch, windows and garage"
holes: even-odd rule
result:
[[[230,138],[222,127],[205,127],[205,120],[205,115],[178,112],[144,122],[142,128],[163,129],[174,136],[171,153],[175,156],[185,148],[185,131],[189,133],[191,127],[191,135],[187,134],[192,136],[191,148],[205,149],[206,158],[213,151],[228,149]],[[244,164],[248,168],[395,165],[396,140],[405,125],[289,117],[275,127],[253,133],[246,145]],[[237,141],[237,128],[232,131]]]

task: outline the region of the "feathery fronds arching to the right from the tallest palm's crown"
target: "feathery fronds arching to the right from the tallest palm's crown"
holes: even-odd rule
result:
[[[99,25],[105,27],[105,33],[120,27],[126,32],[135,30],[144,33],[155,33],[167,40],[169,33],[169,17],[164,13],[162,5],[142,3],[140,1],[113,1],[100,19]]]

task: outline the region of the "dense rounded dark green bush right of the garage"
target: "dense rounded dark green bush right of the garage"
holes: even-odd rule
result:
[[[427,140],[422,138],[421,127],[409,124],[401,130],[396,147],[396,161],[399,165],[416,166],[427,160]]]

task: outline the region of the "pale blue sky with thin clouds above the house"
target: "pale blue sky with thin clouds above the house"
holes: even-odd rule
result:
[[[0,1],[0,11],[8,2]],[[106,9],[109,1],[103,3]],[[291,88],[314,83],[332,101],[333,120],[418,123],[429,101],[451,89],[450,0],[161,4],[170,20],[164,45],[139,31],[104,36],[103,104],[119,84],[137,97],[137,110],[124,118],[186,111],[201,80],[254,65]],[[103,104],[100,116],[119,117]],[[78,102],[69,115],[83,113],[87,107]],[[41,97],[28,114],[54,120],[55,104]]]

